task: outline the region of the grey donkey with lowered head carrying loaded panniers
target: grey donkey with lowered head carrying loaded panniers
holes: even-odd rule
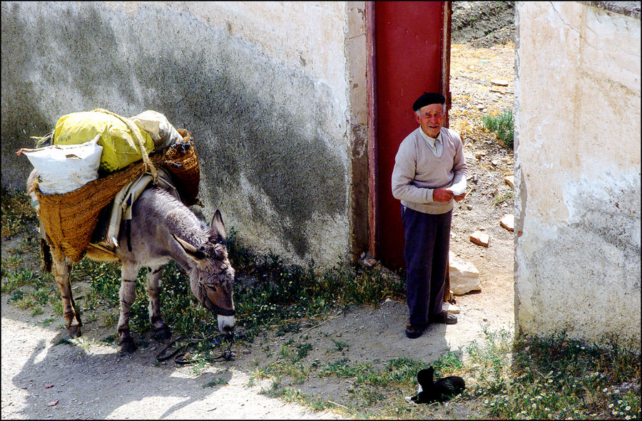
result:
[[[34,190],[36,177],[34,170],[27,181],[27,192]],[[225,225],[218,209],[207,227],[180,200],[160,187],[150,187],[133,204],[131,229],[121,229],[117,240],[116,258],[92,246],[88,247],[86,256],[98,261],[117,260],[121,264],[121,313],[118,318],[121,350],[136,350],[129,331],[129,311],[136,299],[136,277],[141,267],[147,268],[149,320],[161,338],[170,338],[170,328],[161,318],[159,299],[162,269],[170,260],[189,274],[190,289],[198,302],[218,316],[219,331],[233,330],[234,269],[228,260]],[[71,260],[55,248],[51,248],[50,256],[46,254],[45,250],[46,267],[48,259],[51,264],[53,258],[67,330],[71,336],[81,336],[83,323],[71,296]]]

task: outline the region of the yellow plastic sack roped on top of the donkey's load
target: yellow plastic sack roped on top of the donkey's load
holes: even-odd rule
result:
[[[154,142],[145,130],[133,126],[141,135],[145,149],[151,152]],[[122,170],[142,159],[136,137],[118,117],[99,111],[63,115],[54,129],[54,145],[78,145],[100,134],[98,145],[103,147],[101,169],[107,172]]]

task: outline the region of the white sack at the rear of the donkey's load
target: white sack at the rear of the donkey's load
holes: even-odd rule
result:
[[[67,193],[98,178],[103,147],[101,135],[81,145],[51,145],[38,149],[22,149],[39,174],[38,184],[44,194]]]

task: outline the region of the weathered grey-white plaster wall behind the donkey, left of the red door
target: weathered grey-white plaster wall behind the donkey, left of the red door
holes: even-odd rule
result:
[[[3,2],[2,184],[24,189],[15,151],[61,115],[157,110],[195,139],[203,214],[256,251],[332,264],[363,241],[355,26],[345,2]]]

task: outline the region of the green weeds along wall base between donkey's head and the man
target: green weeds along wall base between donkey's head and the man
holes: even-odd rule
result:
[[[405,297],[398,276],[381,269],[339,263],[317,271],[313,262],[304,267],[273,253],[256,256],[240,243],[234,227],[228,253],[237,274],[236,318],[248,336],[270,326],[279,326],[282,334],[299,331],[302,318],[327,316],[332,308]]]

